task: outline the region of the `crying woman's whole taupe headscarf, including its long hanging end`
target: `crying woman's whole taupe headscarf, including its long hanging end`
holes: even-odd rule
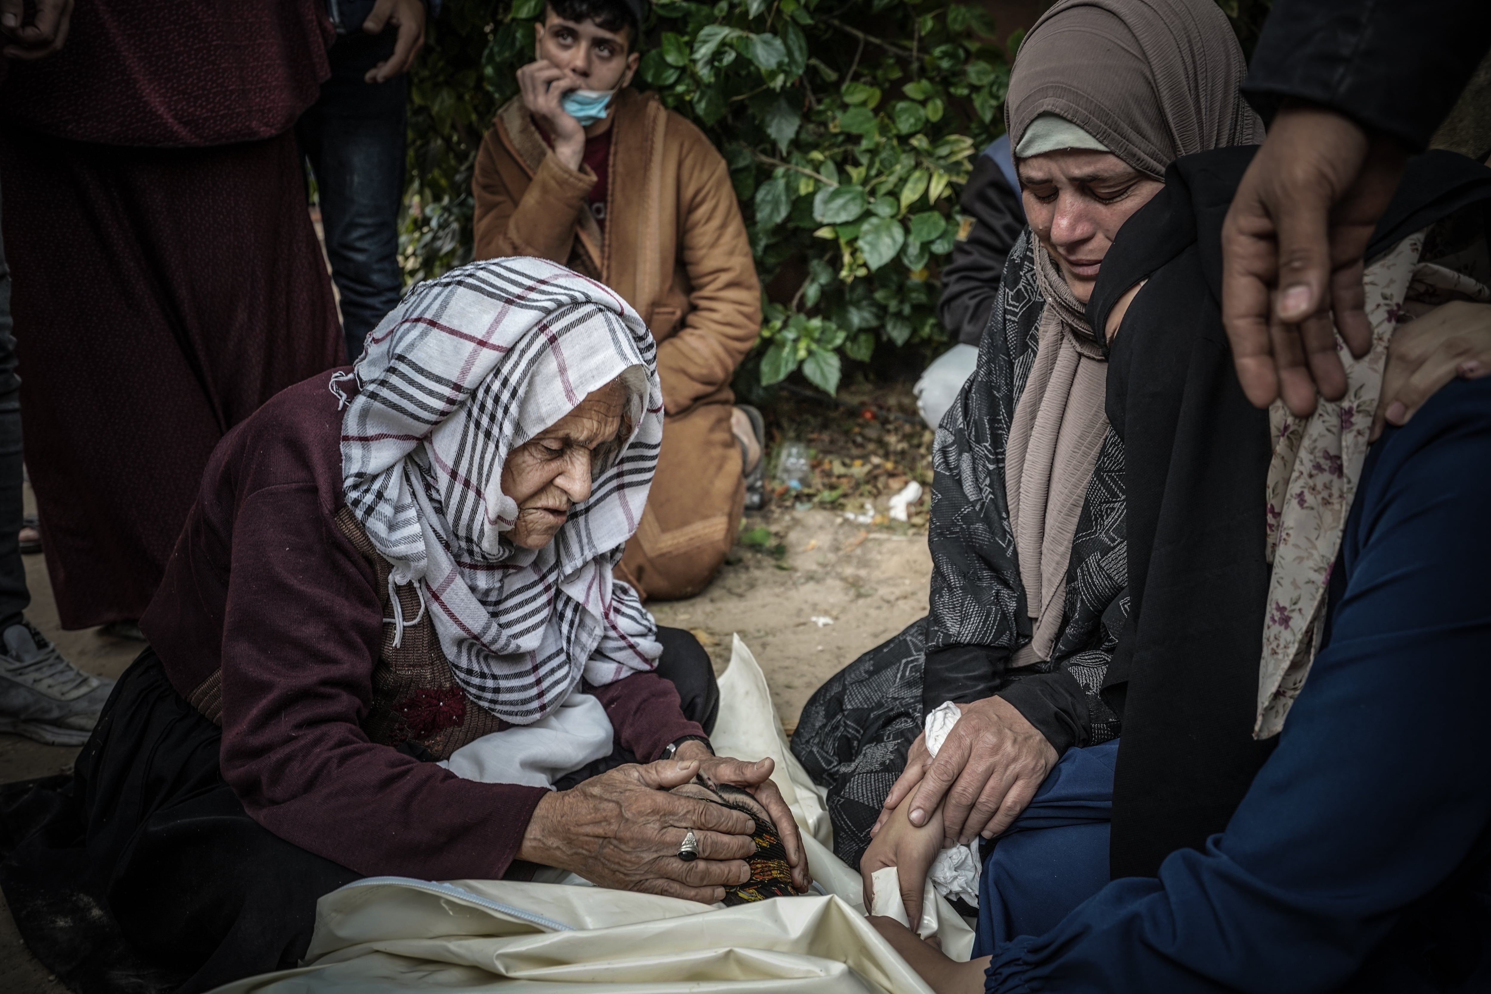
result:
[[[1009,140],[1018,146],[1032,121],[1056,113],[1161,179],[1181,155],[1261,140],[1238,89],[1245,69],[1212,0],[1062,0],[1020,46]],[[1038,247],[1035,258],[1045,308],[1005,449],[1009,528],[1035,621],[1017,666],[1051,657],[1077,520],[1108,434],[1105,350],[1050,255]]]

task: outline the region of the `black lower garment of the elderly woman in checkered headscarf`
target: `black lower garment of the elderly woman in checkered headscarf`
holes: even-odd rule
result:
[[[708,654],[678,629],[659,641],[658,672],[684,715],[713,727]],[[72,776],[0,787],[0,890],[27,946],[69,988],[189,994],[294,967],[316,900],[361,876],[253,821],[218,769],[221,739],[148,648]],[[613,756],[584,775],[635,762]]]

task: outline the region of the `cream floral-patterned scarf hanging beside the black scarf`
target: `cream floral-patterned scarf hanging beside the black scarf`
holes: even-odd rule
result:
[[[1308,419],[1290,414],[1282,401],[1269,408],[1273,459],[1266,499],[1273,574],[1263,623],[1257,739],[1284,729],[1320,648],[1330,569],[1367,458],[1394,329],[1449,300],[1491,300],[1491,291],[1470,276],[1419,262],[1425,237],[1427,231],[1419,231],[1403,238],[1363,274],[1372,349],[1355,359],[1337,340],[1346,368],[1345,396],[1321,401]]]

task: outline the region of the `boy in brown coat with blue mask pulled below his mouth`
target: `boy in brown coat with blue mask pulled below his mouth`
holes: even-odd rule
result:
[[[663,438],[619,575],[698,593],[759,487],[759,414],[729,382],[760,328],[760,283],[725,159],[656,94],[629,86],[644,0],[550,0],[537,60],[482,142],[476,256],[531,255],[605,283],[658,341]]]

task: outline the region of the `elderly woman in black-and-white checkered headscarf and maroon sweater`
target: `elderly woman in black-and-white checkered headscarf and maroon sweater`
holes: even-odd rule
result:
[[[769,760],[708,748],[708,659],[611,574],[661,432],[641,319],[540,259],[420,285],[234,429],[76,773],[4,797],[31,949],[198,991],[294,966],[365,875],[717,902],[753,805],[805,887]]]

